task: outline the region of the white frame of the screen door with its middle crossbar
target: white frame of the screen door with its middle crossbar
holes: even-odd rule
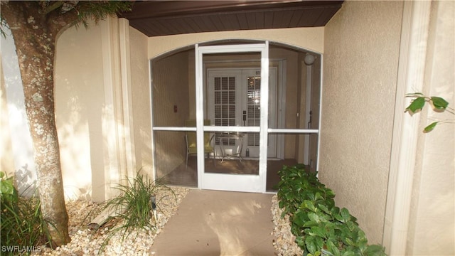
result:
[[[261,53],[261,97],[259,127],[204,126],[203,55],[210,53]],[[228,45],[198,46],[196,53],[196,142],[198,150],[198,188],[225,191],[265,193],[267,178],[267,135],[269,120],[269,42]],[[204,132],[259,132],[259,175],[232,175],[205,173]]]

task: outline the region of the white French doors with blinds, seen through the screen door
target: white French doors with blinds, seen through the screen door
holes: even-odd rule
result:
[[[276,127],[277,70],[269,70],[269,127]],[[207,75],[207,112],[215,126],[259,127],[261,75],[259,68],[209,69]],[[228,136],[226,136],[228,134]],[[215,133],[215,154],[259,158],[259,132]],[[277,156],[277,136],[269,134],[267,157]]]

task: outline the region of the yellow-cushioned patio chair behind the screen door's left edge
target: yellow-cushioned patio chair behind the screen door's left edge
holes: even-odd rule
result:
[[[205,119],[204,125],[210,125],[210,120]],[[190,119],[185,122],[186,127],[196,127],[196,120]],[[210,154],[213,153],[213,166],[215,166],[215,149],[212,146],[212,140],[215,137],[213,134],[210,137],[210,132],[204,132],[204,154],[207,154],[207,158],[210,159]],[[186,168],[188,169],[188,155],[197,154],[198,149],[196,147],[196,132],[186,132]]]

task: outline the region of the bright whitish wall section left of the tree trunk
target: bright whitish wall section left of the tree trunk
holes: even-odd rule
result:
[[[18,193],[31,196],[36,187],[33,144],[24,103],[16,46],[4,26],[1,46],[1,171],[15,176]]]

